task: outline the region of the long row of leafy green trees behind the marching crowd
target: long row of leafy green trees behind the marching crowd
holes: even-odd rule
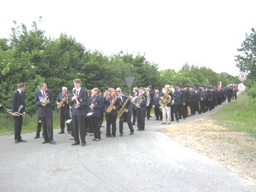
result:
[[[40,17],[39,22],[42,22]],[[0,110],[10,108],[12,93],[17,84],[26,83],[26,112],[35,113],[33,97],[39,84],[47,83],[54,99],[62,86],[68,92],[73,88],[73,79],[81,79],[82,87],[91,90],[98,87],[122,88],[129,93],[125,77],[134,76],[134,86],[152,88],[163,84],[216,85],[220,81],[233,83],[232,76],[216,74],[210,68],[198,68],[184,64],[179,72],[172,69],[158,70],[157,63],[147,61],[145,55],[120,51],[106,56],[98,50],[86,49],[76,38],[60,34],[59,38],[47,38],[45,31],[32,22],[31,29],[13,21],[9,39],[0,38]],[[227,80],[226,80],[227,79]],[[237,79],[237,77],[236,77]],[[227,81],[227,82],[226,82]],[[131,88],[132,89],[132,88]],[[54,107],[53,107],[54,108]]]

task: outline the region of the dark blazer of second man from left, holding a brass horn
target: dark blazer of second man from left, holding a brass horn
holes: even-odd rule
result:
[[[41,90],[35,92],[34,97],[34,104],[36,106],[38,117],[45,117],[45,116],[51,116],[52,115],[52,104],[54,104],[54,99],[52,97],[52,92],[50,90],[45,91],[45,97],[49,96],[50,103],[47,104],[47,106],[42,106],[39,96],[43,97]]]

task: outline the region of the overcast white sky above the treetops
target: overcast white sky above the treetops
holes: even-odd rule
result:
[[[234,56],[256,28],[255,7],[255,0],[3,1],[0,38],[12,33],[12,20],[31,29],[42,16],[45,36],[67,33],[108,56],[140,52],[160,70],[188,63],[238,76]]]

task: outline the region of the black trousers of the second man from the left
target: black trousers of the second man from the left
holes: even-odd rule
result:
[[[52,140],[53,139],[53,128],[52,128],[52,115],[40,117],[41,124],[44,131],[44,140]]]

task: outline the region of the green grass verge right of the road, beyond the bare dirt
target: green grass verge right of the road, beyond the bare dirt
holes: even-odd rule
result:
[[[221,108],[211,116],[214,124],[221,125],[227,131],[247,132],[249,136],[256,137],[256,104],[248,97],[246,92],[237,99],[232,99],[225,108]]]

